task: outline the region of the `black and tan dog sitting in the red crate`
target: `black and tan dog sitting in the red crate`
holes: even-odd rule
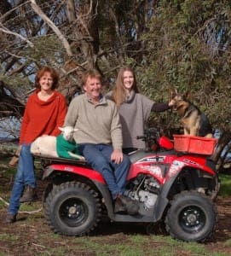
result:
[[[170,99],[172,109],[181,117],[185,135],[212,137],[209,119],[188,100],[188,92],[181,95],[177,90],[170,90]]]

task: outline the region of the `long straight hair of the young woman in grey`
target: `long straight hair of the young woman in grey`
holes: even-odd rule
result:
[[[113,95],[112,100],[116,103],[117,106],[120,106],[124,102],[125,89],[124,89],[124,72],[130,71],[133,74],[134,82],[132,84],[132,90],[134,90],[136,93],[139,92],[137,84],[136,84],[136,75],[131,67],[121,67],[118,76],[116,79],[116,84],[113,89]]]

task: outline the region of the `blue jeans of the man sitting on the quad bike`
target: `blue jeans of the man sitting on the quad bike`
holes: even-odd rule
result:
[[[111,160],[113,147],[110,145],[83,143],[78,145],[78,149],[92,168],[104,177],[113,199],[124,193],[130,168],[130,159],[127,155],[124,154],[121,163],[115,164]]]

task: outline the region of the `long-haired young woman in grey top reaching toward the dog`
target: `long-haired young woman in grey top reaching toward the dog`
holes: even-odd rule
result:
[[[118,106],[123,134],[123,151],[126,154],[137,148],[145,148],[145,143],[136,137],[143,135],[151,111],[163,112],[170,108],[170,103],[153,102],[139,93],[135,73],[130,67],[120,69],[115,87],[107,97]]]

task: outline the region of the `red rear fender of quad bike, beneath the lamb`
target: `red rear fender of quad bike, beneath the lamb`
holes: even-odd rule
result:
[[[101,176],[100,172],[96,172],[93,169],[84,166],[72,166],[72,165],[51,165],[45,169],[43,173],[43,179],[49,177],[52,172],[72,172],[91,180],[97,181],[99,183],[105,184],[104,178]]]

